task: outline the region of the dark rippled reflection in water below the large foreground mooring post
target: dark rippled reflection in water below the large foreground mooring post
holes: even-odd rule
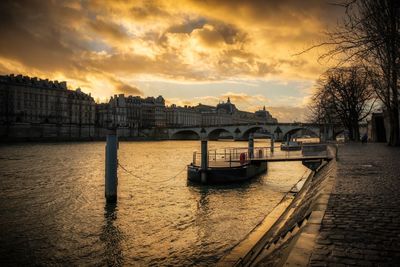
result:
[[[105,246],[107,266],[122,266],[123,255],[121,240],[123,234],[116,225],[118,209],[116,203],[107,203],[104,206],[105,225],[102,229],[100,240]]]

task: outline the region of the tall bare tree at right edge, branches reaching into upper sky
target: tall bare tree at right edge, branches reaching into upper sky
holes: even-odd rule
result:
[[[327,42],[310,49],[332,45],[321,58],[335,57],[341,63],[357,62],[369,68],[376,94],[389,115],[389,144],[398,146],[400,1],[350,0],[339,5],[346,10],[343,21],[327,33]]]

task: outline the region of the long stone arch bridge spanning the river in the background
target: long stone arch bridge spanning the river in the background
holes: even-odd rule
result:
[[[221,137],[230,137],[234,140],[247,140],[251,133],[264,136],[274,136],[275,140],[286,140],[287,135],[309,135],[321,137],[326,135],[326,140],[336,137],[333,125],[313,123],[274,123],[274,124],[235,124],[209,127],[180,127],[168,128],[169,139],[197,140],[205,135],[209,140],[217,140]]]

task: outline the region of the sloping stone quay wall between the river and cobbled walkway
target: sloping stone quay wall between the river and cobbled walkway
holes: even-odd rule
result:
[[[282,201],[248,236],[228,251],[218,266],[283,266],[288,259],[290,242],[311,227],[321,202],[327,203],[334,184],[336,161],[333,159],[306,179],[299,181]],[[317,212],[315,212],[317,210]],[[308,222],[308,223],[307,223]],[[311,225],[311,226],[310,226]]]

